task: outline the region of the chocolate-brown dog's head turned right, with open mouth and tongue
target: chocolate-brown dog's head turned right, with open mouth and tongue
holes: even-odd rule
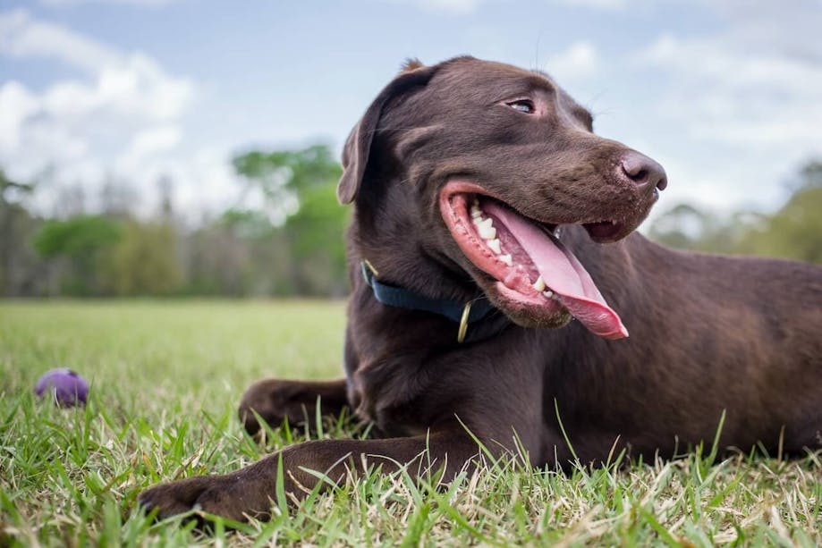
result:
[[[476,284],[520,325],[574,316],[598,335],[627,334],[555,232],[579,224],[597,242],[620,240],[665,171],[594,135],[591,114],[546,75],[470,57],[408,63],[352,131],[343,167],[338,197],[356,200],[356,244],[372,257],[392,249],[394,282]]]

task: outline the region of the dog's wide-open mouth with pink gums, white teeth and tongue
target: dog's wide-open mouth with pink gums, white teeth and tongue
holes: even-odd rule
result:
[[[498,297],[506,304],[544,325],[560,325],[559,318],[570,314],[600,337],[628,336],[580,261],[556,238],[555,225],[522,216],[462,181],[445,186],[440,210],[465,256],[496,279]],[[606,240],[619,227],[591,223],[586,229]]]

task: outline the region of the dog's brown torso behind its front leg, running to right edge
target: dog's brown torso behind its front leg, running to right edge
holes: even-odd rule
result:
[[[565,349],[544,349],[547,400],[575,438],[590,429],[598,439],[589,459],[617,436],[635,454],[687,451],[713,439],[723,414],[722,447],[822,443],[822,269],[665,249],[638,234],[575,243],[631,333],[602,341],[570,325],[547,337]],[[557,426],[554,409],[546,421]]]

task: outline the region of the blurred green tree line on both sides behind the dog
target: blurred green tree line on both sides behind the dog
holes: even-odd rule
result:
[[[62,211],[44,216],[32,205],[38,182],[0,171],[0,295],[343,296],[348,209],[336,201],[342,169],[330,149],[253,150],[234,157],[233,168],[241,198],[196,226],[175,211],[167,179],[149,218],[116,181],[104,186],[98,211],[86,210],[78,187],[59,200]],[[683,249],[822,263],[822,161],[805,164],[789,190],[770,214],[681,204],[648,235]]]

